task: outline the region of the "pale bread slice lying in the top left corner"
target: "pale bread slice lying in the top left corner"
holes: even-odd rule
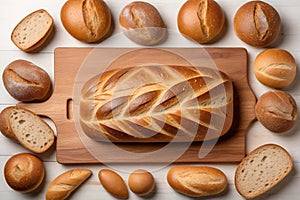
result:
[[[53,27],[51,15],[46,10],[40,9],[18,23],[11,34],[11,40],[21,50],[33,51],[46,42]]]

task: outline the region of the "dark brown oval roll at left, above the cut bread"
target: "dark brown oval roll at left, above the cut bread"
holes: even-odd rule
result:
[[[15,60],[3,71],[2,79],[8,93],[19,101],[45,99],[51,88],[48,73],[27,60]]]

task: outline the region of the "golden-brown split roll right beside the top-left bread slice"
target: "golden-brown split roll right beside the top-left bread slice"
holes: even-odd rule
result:
[[[82,42],[100,42],[113,29],[110,9],[102,0],[68,0],[60,18],[69,34]]]

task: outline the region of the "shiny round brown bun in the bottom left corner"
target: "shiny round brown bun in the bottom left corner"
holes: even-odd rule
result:
[[[44,180],[43,162],[29,153],[12,156],[4,166],[4,177],[7,184],[18,192],[31,192],[37,189]]]

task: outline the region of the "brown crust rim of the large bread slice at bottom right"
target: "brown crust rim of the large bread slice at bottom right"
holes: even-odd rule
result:
[[[261,191],[257,192],[257,191],[253,191],[252,194],[247,194],[247,193],[244,193],[242,192],[239,184],[238,184],[238,176],[240,175],[241,171],[242,171],[242,168],[245,167],[245,163],[251,159],[253,157],[254,154],[256,154],[258,151],[260,151],[261,149],[264,149],[264,148],[278,148],[280,149],[281,151],[284,152],[284,154],[286,155],[286,158],[288,159],[289,161],[289,166],[288,166],[288,169],[286,169],[286,173],[284,175],[280,175],[278,177],[278,179],[274,182],[274,183],[271,183],[268,185],[268,187],[266,188],[263,188],[261,189]],[[274,166],[272,166],[274,167]],[[252,150],[241,162],[240,164],[237,166],[237,169],[235,171],[235,177],[234,177],[234,182],[235,182],[235,187],[236,187],[236,190],[238,191],[238,193],[240,195],[242,195],[244,198],[246,199],[253,199],[255,197],[258,197],[262,194],[264,194],[265,192],[269,191],[270,189],[272,189],[276,184],[278,184],[279,182],[281,182],[293,169],[293,161],[292,161],[292,157],[290,156],[290,154],[288,153],[287,150],[285,150],[283,147],[277,145],[277,144],[264,144],[264,145],[261,145],[259,147],[257,147],[256,149]],[[258,170],[258,169],[257,169]],[[272,169],[271,169],[272,170]]]

